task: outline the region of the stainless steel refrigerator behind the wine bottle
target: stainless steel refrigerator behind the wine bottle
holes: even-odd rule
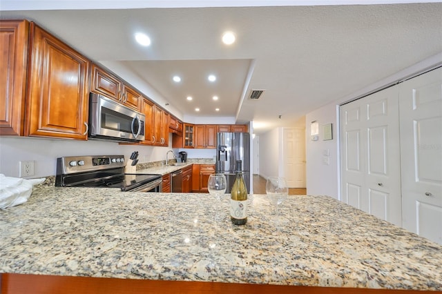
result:
[[[242,173],[246,182],[247,193],[250,192],[250,134],[217,133],[216,134],[216,173],[224,173],[227,179],[226,193],[231,192],[235,182],[236,161],[242,161]]]

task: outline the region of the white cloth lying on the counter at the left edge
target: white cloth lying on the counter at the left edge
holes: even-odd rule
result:
[[[28,201],[32,194],[32,187],[43,183],[45,179],[21,179],[0,174],[0,209],[17,206]]]

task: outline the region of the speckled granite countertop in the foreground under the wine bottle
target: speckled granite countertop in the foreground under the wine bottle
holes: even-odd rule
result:
[[[227,195],[39,186],[0,210],[0,272],[442,290],[439,244],[331,197],[289,196],[279,224],[249,201],[234,226]]]

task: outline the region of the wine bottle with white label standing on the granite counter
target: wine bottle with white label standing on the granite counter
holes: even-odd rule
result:
[[[230,199],[230,219],[233,224],[247,223],[247,187],[242,177],[242,161],[236,161],[236,179]]]

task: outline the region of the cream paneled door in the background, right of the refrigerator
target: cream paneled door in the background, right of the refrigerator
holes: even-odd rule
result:
[[[305,188],[305,129],[284,128],[285,178],[290,188]]]

